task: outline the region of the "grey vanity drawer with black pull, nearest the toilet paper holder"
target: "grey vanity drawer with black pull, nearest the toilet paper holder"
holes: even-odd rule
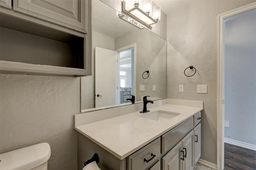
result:
[[[145,170],[160,160],[160,138],[128,156],[128,170]],[[155,155],[155,156],[154,156]],[[148,162],[146,162],[148,160]]]

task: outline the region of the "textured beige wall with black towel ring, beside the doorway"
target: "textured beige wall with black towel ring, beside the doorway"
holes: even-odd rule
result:
[[[198,0],[167,16],[167,97],[204,101],[201,159],[216,164],[217,156],[217,16],[255,0]],[[196,67],[193,77],[184,69]],[[196,93],[207,84],[208,94]],[[178,85],[184,85],[179,93]]]

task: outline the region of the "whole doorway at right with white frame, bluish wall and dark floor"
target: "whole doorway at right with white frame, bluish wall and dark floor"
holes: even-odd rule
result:
[[[246,157],[249,155],[246,148],[256,149],[255,6],[253,3],[219,15],[217,166],[220,170],[247,170],[256,164],[250,162],[252,166],[248,166],[247,162],[255,154]],[[229,121],[229,125],[224,121]]]

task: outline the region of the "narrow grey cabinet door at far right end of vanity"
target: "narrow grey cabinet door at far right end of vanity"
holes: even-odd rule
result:
[[[201,156],[201,123],[194,128],[194,166]]]

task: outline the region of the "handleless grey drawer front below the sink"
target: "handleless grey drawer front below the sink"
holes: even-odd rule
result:
[[[190,117],[184,123],[163,134],[161,153],[174,147],[194,126],[193,117]]]

